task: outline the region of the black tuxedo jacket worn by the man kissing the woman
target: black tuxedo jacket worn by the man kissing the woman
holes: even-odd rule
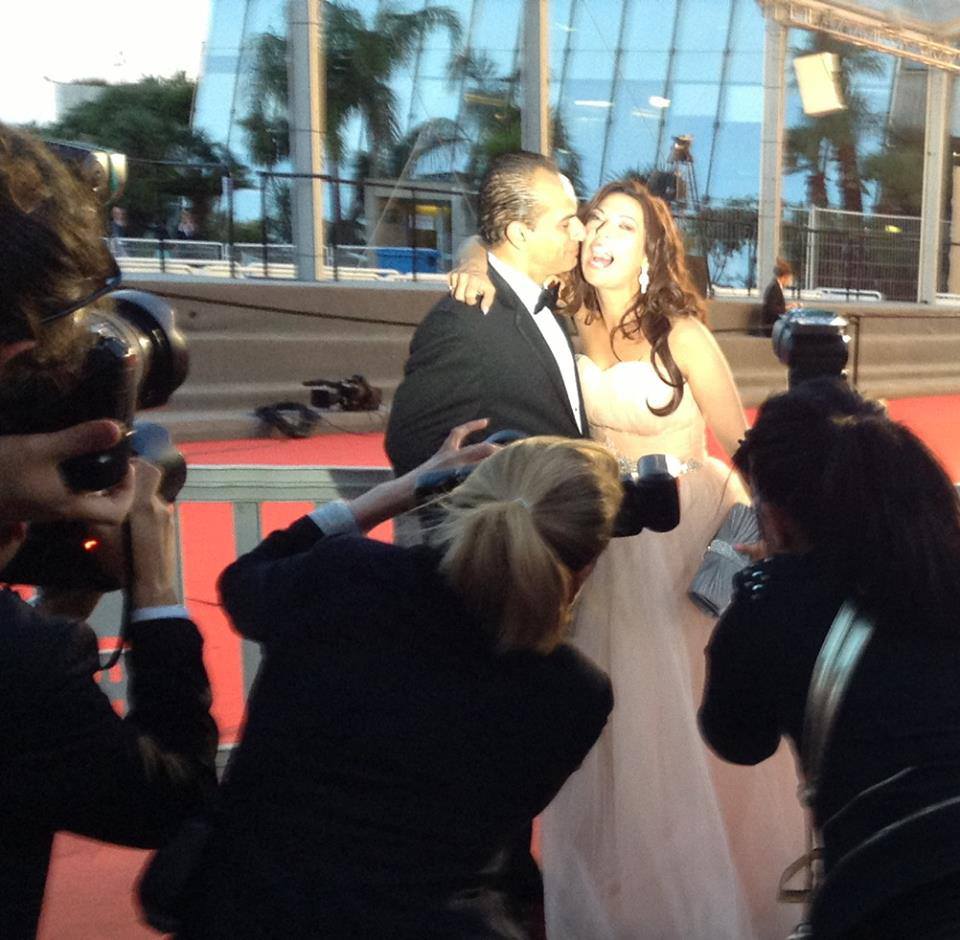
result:
[[[484,436],[506,428],[583,436],[536,323],[492,268],[489,276],[497,289],[489,313],[447,297],[414,333],[387,426],[387,454],[398,474],[419,466],[451,428],[473,418],[490,419]],[[582,397],[580,413],[586,425]]]

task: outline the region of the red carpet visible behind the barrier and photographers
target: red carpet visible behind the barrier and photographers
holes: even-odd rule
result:
[[[960,395],[910,398],[890,403],[892,417],[915,431],[960,480]],[[266,439],[192,443],[182,447],[192,464],[387,466],[379,434],[338,434],[306,440]],[[716,452],[716,448],[711,447]],[[264,507],[264,534],[286,525],[309,507]],[[226,504],[181,507],[187,603],[205,638],[214,688],[214,709],[224,740],[234,740],[242,717],[239,641],[217,606],[215,583],[234,557]],[[387,536],[387,531],[381,531]],[[130,889],[147,853],[59,836],[48,883],[42,940],[134,940],[155,937],[136,920]]]

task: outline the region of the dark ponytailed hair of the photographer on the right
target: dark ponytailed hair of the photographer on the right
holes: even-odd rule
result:
[[[960,499],[936,457],[837,379],[760,407],[734,454],[755,495],[887,629],[960,629]]]

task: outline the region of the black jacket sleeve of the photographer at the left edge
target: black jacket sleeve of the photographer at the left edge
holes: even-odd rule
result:
[[[132,626],[125,717],[97,686],[88,626],[44,617],[6,593],[0,629],[4,849],[61,829],[153,847],[206,805],[217,730],[193,623]]]

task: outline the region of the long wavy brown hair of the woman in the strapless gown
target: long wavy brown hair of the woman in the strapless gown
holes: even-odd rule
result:
[[[639,287],[633,302],[610,332],[610,342],[617,333],[626,339],[642,336],[650,344],[650,361],[657,375],[673,388],[670,401],[662,408],[647,407],[655,415],[668,415],[677,410],[683,398],[683,375],[670,352],[670,329],[677,317],[696,317],[706,322],[706,308],[693,286],[687,270],[683,239],[670,215],[667,204],[654,196],[643,183],[634,179],[614,180],[602,186],[581,208],[584,223],[607,196],[622,193],[633,199],[643,212],[644,248],[650,267],[650,284],[641,294]],[[573,309],[586,307],[586,322],[600,316],[597,292],[583,276],[581,264],[574,269]],[[614,351],[616,355],[616,351]]]

